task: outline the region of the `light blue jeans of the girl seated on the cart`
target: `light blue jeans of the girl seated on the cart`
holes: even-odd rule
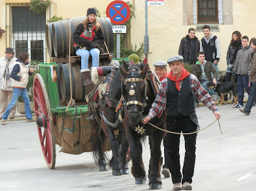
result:
[[[92,67],[99,67],[99,49],[93,48],[91,50],[78,49],[76,55],[81,56],[81,69],[88,69],[88,59],[92,56]]]

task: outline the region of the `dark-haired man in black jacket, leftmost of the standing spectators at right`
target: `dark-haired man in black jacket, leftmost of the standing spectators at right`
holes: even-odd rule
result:
[[[184,58],[184,63],[193,65],[197,62],[197,52],[200,50],[200,42],[195,36],[195,29],[188,29],[186,37],[182,38],[178,54]]]

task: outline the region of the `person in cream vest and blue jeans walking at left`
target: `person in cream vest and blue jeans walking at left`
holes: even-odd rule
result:
[[[28,98],[28,91],[26,90],[26,86],[28,85],[28,77],[34,73],[32,68],[29,68],[29,54],[26,52],[22,52],[19,55],[19,58],[16,60],[16,65],[11,71],[11,86],[13,87],[13,95],[11,98],[11,102],[7,106],[1,124],[5,125],[6,120],[11,112],[12,108],[16,105],[16,102],[20,95],[22,96],[22,100],[25,104],[25,114],[26,114],[26,122],[35,122],[36,120],[32,119],[32,112],[30,108],[30,100]]]

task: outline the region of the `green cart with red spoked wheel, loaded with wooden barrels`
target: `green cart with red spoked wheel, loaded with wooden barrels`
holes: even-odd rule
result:
[[[94,85],[82,85],[80,57],[74,56],[72,40],[74,29],[82,20],[84,17],[76,17],[47,24],[47,48],[54,63],[39,64],[39,73],[34,75],[36,124],[49,169],[55,167],[55,145],[61,146],[61,152],[74,155],[93,151],[85,95]],[[105,53],[100,54],[100,66],[111,65],[111,22],[107,17],[98,18],[98,22],[105,36]],[[53,71],[57,73],[55,82]],[[110,150],[107,139],[103,145],[103,151]]]

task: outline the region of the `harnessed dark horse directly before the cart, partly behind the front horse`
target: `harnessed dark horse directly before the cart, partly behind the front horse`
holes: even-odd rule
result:
[[[124,71],[126,70],[127,67]],[[116,112],[116,107],[121,99],[121,78],[120,69],[112,70],[105,80],[99,82],[95,87],[88,102],[95,161],[99,164],[100,171],[108,170],[106,157],[103,153],[103,143],[107,136],[112,150],[110,166],[113,176],[129,174],[126,163],[128,142],[124,126],[118,118],[121,111]],[[95,93],[97,92],[99,92],[99,97],[95,100]]]

